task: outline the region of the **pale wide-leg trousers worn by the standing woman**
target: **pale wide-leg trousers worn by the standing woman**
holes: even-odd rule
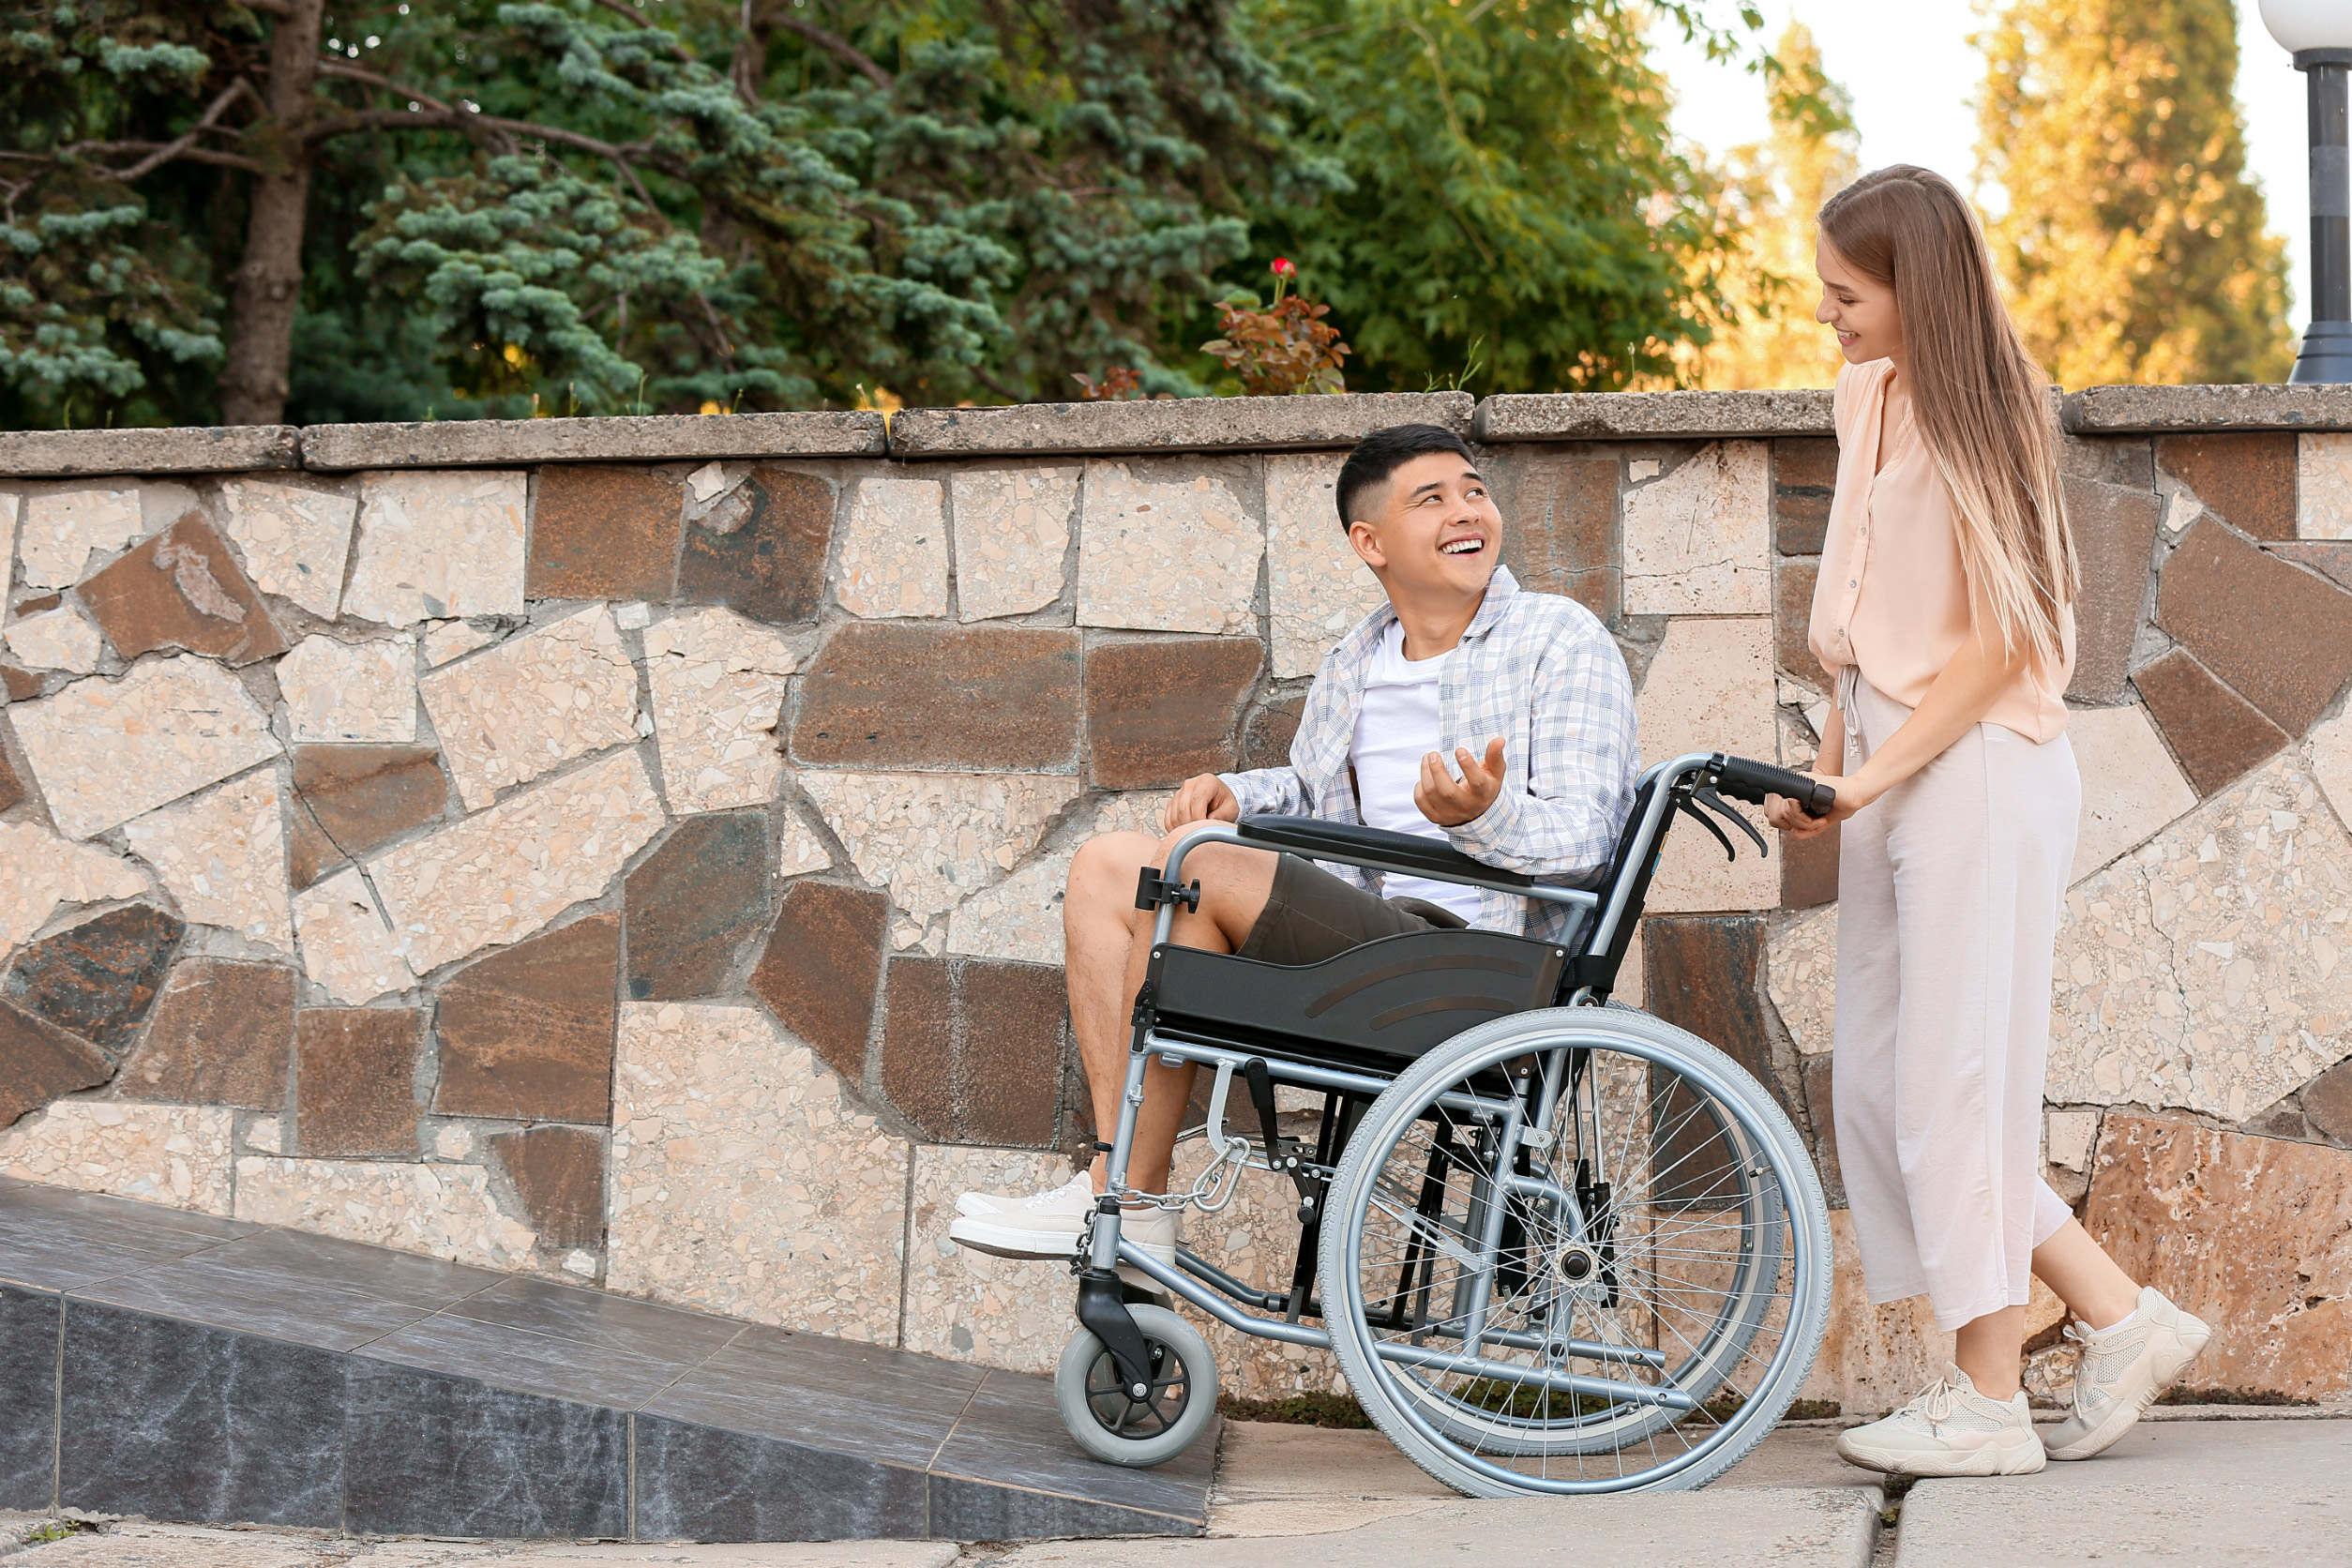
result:
[[[1846,670],[1846,771],[1910,717]],[[1872,1302],[1936,1326],[2023,1307],[2070,1208],[2042,1180],[2051,947],[2082,776],[2065,736],[1978,724],[1844,825],[1837,1164]]]

